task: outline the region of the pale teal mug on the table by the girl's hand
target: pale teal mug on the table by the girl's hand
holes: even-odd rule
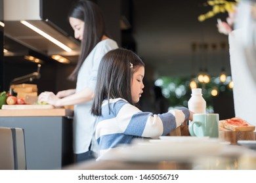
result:
[[[191,136],[218,138],[219,114],[193,114],[188,131]]]

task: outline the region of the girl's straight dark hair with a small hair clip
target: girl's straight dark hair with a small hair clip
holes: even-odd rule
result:
[[[117,48],[111,50],[101,59],[95,88],[95,97],[91,112],[101,115],[101,105],[104,99],[123,98],[133,104],[131,98],[131,79],[133,73],[143,61],[131,50]]]

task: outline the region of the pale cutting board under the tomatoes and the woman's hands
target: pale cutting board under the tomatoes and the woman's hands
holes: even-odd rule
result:
[[[8,109],[49,109],[54,108],[53,105],[3,105],[2,110]]]

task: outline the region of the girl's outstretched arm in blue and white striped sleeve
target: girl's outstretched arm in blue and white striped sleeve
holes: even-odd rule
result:
[[[117,121],[123,133],[140,137],[160,137],[167,135],[190,118],[188,108],[177,108],[163,114],[142,112],[127,104],[120,108]]]

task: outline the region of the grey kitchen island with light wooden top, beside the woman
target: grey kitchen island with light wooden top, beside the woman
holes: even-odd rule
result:
[[[27,169],[62,169],[74,163],[72,110],[0,110],[0,126],[24,129]]]

